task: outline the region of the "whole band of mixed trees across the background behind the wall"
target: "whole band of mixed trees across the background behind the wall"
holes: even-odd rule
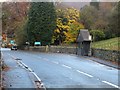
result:
[[[5,3],[2,26],[18,45],[36,41],[61,45],[76,43],[83,28],[94,41],[119,37],[119,18],[120,2],[91,2],[80,10],[57,8],[52,2]]]

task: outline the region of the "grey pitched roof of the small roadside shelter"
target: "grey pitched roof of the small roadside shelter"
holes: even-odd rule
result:
[[[77,38],[77,42],[91,41],[90,33],[87,29],[81,29]]]

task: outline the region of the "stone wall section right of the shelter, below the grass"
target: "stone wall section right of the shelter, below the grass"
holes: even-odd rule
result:
[[[109,61],[115,61],[115,62],[120,61],[120,51],[115,51],[115,50],[92,48],[92,56]]]

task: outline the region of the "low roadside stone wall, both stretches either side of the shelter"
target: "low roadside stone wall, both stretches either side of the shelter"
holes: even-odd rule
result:
[[[26,47],[26,50],[38,51],[38,52],[52,52],[52,53],[67,53],[67,54],[77,54],[78,49],[76,47],[67,46],[36,46],[36,47]],[[93,57],[108,61],[120,61],[120,51],[115,50],[104,50],[104,49],[91,49],[91,54]]]

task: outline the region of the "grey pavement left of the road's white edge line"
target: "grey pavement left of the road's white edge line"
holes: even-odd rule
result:
[[[4,57],[4,64],[7,66],[2,71],[3,88],[35,88],[30,74],[10,56]]]

